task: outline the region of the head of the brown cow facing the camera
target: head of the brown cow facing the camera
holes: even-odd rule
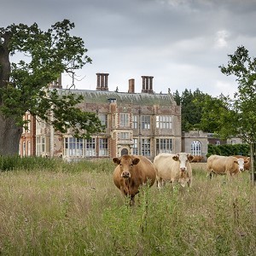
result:
[[[132,167],[136,166],[140,160],[137,157],[124,154],[120,158],[113,158],[113,162],[119,165],[121,177],[129,178],[131,177]]]

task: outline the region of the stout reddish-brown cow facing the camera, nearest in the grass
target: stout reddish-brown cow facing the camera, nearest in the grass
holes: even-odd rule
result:
[[[118,166],[113,172],[113,183],[119,188],[122,195],[129,196],[130,204],[134,205],[134,197],[139,193],[143,184],[151,187],[155,181],[153,163],[142,155],[122,155],[113,158]]]

